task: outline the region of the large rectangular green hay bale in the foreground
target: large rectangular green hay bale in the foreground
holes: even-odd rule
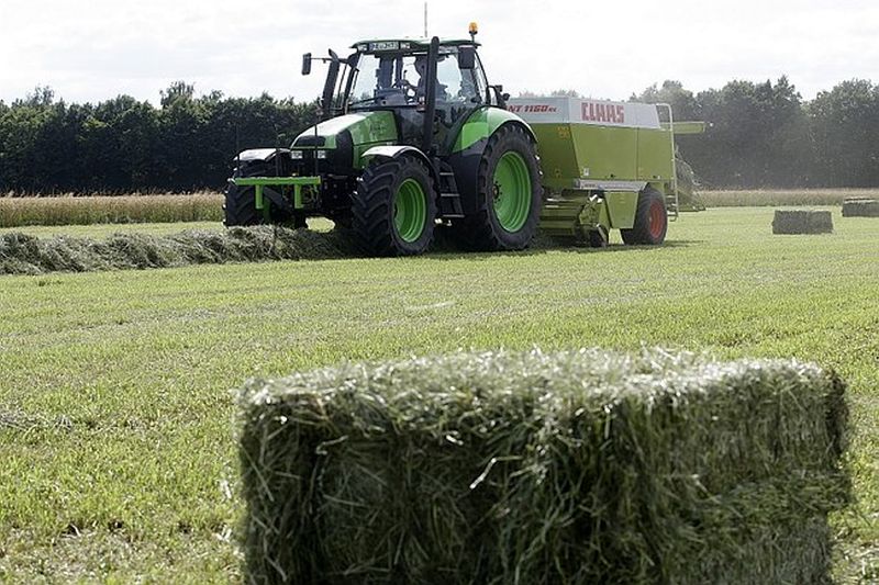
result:
[[[794,361],[459,353],[251,381],[252,583],[816,583],[844,384]]]

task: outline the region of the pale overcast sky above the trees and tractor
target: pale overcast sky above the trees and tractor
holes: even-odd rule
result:
[[[853,78],[879,82],[875,0],[430,0],[429,33],[470,21],[489,82],[627,99],[675,79],[687,89],[787,75],[812,99]],[[119,94],[158,103],[183,80],[198,94],[311,100],[322,66],[360,38],[422,36],[423,0],[0,0],[0,100],[48,86],[68,102]]]

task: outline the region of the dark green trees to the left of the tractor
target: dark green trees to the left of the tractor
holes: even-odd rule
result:
[[[265,93],[197,98],[185,82],[159,106],[129,95],[68,104],[37,88],[0,102],[0,192],[222,189],[240,150],[289,146],[318,110]]]

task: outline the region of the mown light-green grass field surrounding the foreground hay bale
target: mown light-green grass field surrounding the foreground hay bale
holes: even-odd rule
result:
[[[342,360],[642,345],[795,357],[850,383],[857,510],[837,572],[879,575],[879,237],[686,214],[660,248],[0,278],[0,580],[224,582],[242,514],[231,389]]]

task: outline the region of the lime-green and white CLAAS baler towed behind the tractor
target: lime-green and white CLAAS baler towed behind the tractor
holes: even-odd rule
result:
[[[537,138],[543,170],[541,230],[603,246],[610,229],[626,244],[661,244],[677,217],[675,133],[666,104],[550,97],[510,100]],[[668,122],[660,122],[660,110]]]

